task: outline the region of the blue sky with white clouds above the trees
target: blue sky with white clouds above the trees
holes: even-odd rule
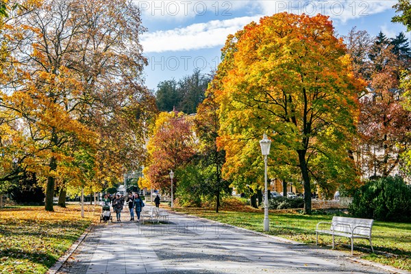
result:
[[[336,33],[346,35],[352,27],[372,36],[379,31],[393,37],[406,28],[391,23],[397,0],[353,1],[135,1],[147,32],[140,42],[149,60],[145,84],[156,90],[161,81],[182,78],[194,69],[208,73],[220,62],[221,47],[251,21],[277,12],[321,13],[330,16]],[[410,34],[406,33],[410,40]]]

